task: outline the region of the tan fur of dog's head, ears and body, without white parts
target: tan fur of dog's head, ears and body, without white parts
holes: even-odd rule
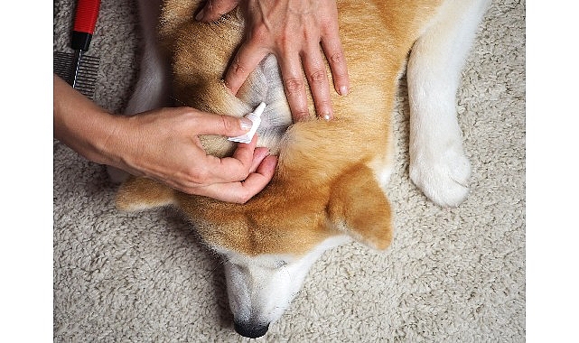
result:
[[[388,247],[391,212],[376,177],[392,163],[390,112],[397,79],[439,3],[338,1],[350,94],[332,95],[334,120],[296,123],[272,141],[270,148],[279,154],[275,177],[246,204],[190,196],[133,178],[119,190],[118,207],[174,204],[210,246],[245,255],[300,255],[344,232],[369,246]],[[252,109],[244,99],[255,97],[252,83],[257,80],[248,79],[233,97],[220,79],[241,42],[244,24],[237,11],[219,23],[197,23],[193,16],[199,5],[167,0],[163,6],[159,32],[173,58],[174,95],[178,105],[243,116]],[[234,147],[223,137],[203,137],[203,143],[219,156]]]

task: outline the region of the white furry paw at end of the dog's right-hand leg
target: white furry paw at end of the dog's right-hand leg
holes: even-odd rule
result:
[[[410,163],[410,178],[428,199],[444,207],[458,206],[469,193],[471,162],[462,146],[442,151],[425,149]]]

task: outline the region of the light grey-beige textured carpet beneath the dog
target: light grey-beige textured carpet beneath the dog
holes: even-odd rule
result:
[[[68,50],[74,2],[54,2],[54,51]],[[135,83],[135,2],[103,2],[89,54],[95,100],[122,112]],[[494,1],[462,74],[458,112],[472,191],[457,209],[408,177],[399,92],[392,246],[352,243],[314,264],[261,341],[525,341],[525,2]],[[103,166],[54,141],[57,342],[245,341],[233,330],[219,259],[169,209],[126,214]]]

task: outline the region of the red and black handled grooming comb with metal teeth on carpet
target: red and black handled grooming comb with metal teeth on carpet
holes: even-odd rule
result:
[[[100,0],[79,0],[70,42],[74,53],[54,52],[54,72],[89,98],[95,94],[100,59],[85,52],[89,51],[99,8]]]

